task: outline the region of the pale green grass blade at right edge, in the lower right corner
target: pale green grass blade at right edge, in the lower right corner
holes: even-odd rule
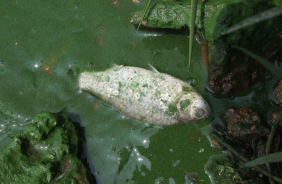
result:
[[[256,158],[255,160],[245,163],[243,167],[252,167],[265,163],[280,162],[280,161],[282,161],[282,152],[277,152],[260,158]]]

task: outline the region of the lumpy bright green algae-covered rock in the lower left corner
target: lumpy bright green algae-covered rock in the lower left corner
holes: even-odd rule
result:
[[[0,183],[89,183],[67,115],[43,112],[0,153]]]

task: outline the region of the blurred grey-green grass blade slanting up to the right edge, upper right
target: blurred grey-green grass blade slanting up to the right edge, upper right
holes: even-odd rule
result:
[[[221,34],[222,35],[228,34],[228,33],[237,31],[241,28],[244,28],[246,26],[255,24],[257,22],[261,22],[261,21],[266,20],[268,18],[279,16],[281,14],[282,14],[282,6],[276,6],[276,7],[269,9],[269,10],[260,12],[256,15],[254,15],[254,16],[251,16],[251,17],[248,17],[248,18],[241,20],[236,25],[231,26],[230,28],[227,28],[226,30],[224,30]]]

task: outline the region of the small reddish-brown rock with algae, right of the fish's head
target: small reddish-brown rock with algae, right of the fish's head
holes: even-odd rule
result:
[[[251,142],[268,132],[268,129],[260,124],[258,113],[251,109],[228,109],[223,118],[226,132],[244,142]]]

